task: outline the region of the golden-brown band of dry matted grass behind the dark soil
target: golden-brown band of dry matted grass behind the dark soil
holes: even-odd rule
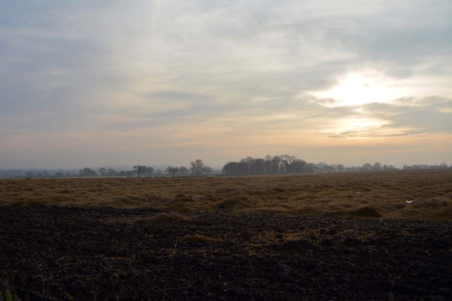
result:
[[[407,205],[406,201],[414,201]],[[452,170],[209,178],[0,180],[0,206],[232,210],[452,219]]]

